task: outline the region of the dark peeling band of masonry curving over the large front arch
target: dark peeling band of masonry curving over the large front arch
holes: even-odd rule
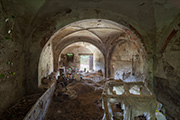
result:
[[[121,24],[134,32],[138,38],[140,38],[141,42],[144,45],[144,48],[147,50],[148,53],[152,52],[152,41],[150,40],[150,36],[147,34],[147,30],[144,30],[143,26],[139,26],[138,22],[134,19],[132,19],[130,16],[126,16],[125,14],[122,14],[121,11],[115,10],[115,11],[109,11],[109,9],[98,9],[100,12],[98,13],[98,16],[95,15],[94,9],[72,9],[73,12],[68,13],[67,15],[59,14],[61,12],[57,11],[49,11],[44,14],[44,9],[47,9],[46,7],[42,7],[37,12],[36,16],[32,20],[31,24],[29,25],[27,32],[26,32],[26,38],[29,39],[28,41],[33,40],[31,43],[32,45],[29,46],[26,42],[26,49],[27,51],[29,49],[36,49],[38,50],[36,52],[31,52],[30,58],[32,61],[36,61],[38,63],[40,54],[42,52],[42,47],[48,42],[47,40],[54,37],[56,32],[64,27],[65,25],[69,25],[69,23],[73,23],[76,21],[80,21],[82,19],[108,19],[111,21],[114,21],[116,24]],[[57,14],[54,14],[57,12]],[[62,11],[63,12],[63,11]],[[109,12],[111,14],[109,14]],[[53,16],[52,16],[53,15]],[[49,16],[49,17],[47,17]],[[53,23],[53,24],[52,24]],[[43,33],[43,39],[36,36],[36,34],[42,34]],[[38,46],[38,44],[41,44],[41,46]],[[147,46],[148,45],[148,46]],[[34,46],[37,46],[34,48]],[[37,57],[34,57],[37,56]],[[26,63],[26,66],[31,66],[32,68],[35,68],[35,70],[31,70],[32,72],[26,72],[26,79],[28,79],[28,87],[31,88],[31,86],[34,86],[35,89],[37,88],[37,64],[29,64]],[[26,68],[26,71],[29,71],[30,68]],[[151,72],[152,73],[152,72]],[[152,75],[151,75],[152,76]],[[30,79],[31,77],[31,79]],[[31,89],[29,89],[31,91]]]

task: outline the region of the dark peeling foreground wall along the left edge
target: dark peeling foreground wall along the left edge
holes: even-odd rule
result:
[[[0,116],[25,93],[24,52],[19,19],[0,2]]]

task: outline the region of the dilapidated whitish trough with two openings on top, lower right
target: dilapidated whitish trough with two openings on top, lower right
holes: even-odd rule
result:
[[[103,120],[135,120],[140,115],[155,120],[156,98],[143,82],[108,81],[102,96]]]

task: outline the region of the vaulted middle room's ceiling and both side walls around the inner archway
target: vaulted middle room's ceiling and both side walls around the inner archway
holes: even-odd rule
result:
[[[102,53],[104,63],[98,64],[104,65],[106,78],[125,80],[131,74],[142,80],[148,79],[146,51],[141,40],[130,29],[105,19],[86,19],[59,29],[46,43],[39,61],[38,85],[43,77],[58,71],[62,51],[77,42],[89,43]],[[80,68],[78,65],[76,67]]]

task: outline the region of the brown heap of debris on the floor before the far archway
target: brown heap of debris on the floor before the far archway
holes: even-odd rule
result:
[[[70,81],[64,77],[59,77],[56,83],[54,97],[68,96],[70,99],[75,99],[80,94],[102,90],[102,85],[92,80]]]

